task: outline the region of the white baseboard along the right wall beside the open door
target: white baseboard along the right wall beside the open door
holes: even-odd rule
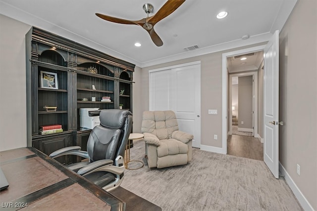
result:
[[[287,173],[287,171],[284,169],[281,163],[279,163],[279,170],[283,175],[285,175],[285,181],[287,182],[288,186],[293,191],[296,199],[301,204],[304,211],[314,211],[312,205],[307,201],[303,193],[297,187],[297,185],[295,184],[293,179],[290,177],[290,175]]]

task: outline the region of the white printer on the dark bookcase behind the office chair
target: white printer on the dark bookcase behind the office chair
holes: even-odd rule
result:
[[[79,110],[80,127],[93,129],[95,126],[100,125],[99,108],[81,108]]]

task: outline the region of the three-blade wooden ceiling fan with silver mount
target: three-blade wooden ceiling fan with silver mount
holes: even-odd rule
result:
[[[150,3],[145,3],[143,5],[143,9],[147,13],[147,17],[138,21],[124,20],[121,18],[111,17],[108,15],[100,14],[100,13],[96,13],[96,15],[106,21],[111,21],[114,23],[135,24],[135,25],[142,26],[150,34],[152,41],[157,46],[162,46],[163,42],[159,38],[159,35],[154,31],[153,27],[160,20],[162,20],[163,18],[167,17],[172,12],[174,12],[180,5],[182,5],[182,3],[184,3],[184,1],[185,0],[167,0],[165,4],[159,9],[159,11],[150,17],[149,17],[149,13],[153,11],[153,5]]]

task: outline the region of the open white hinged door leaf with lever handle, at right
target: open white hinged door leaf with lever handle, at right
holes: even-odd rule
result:
[[[264,162],[275,178],[278,178],[278,161],[278,31],[275,31],[264,48]]]

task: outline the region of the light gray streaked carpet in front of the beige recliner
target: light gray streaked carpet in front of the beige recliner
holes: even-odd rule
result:
[[[143,160],[144,141],[134,141],[131,160]],[[193,148],[190,164],[125,170],[121,187],[162,211],[301,211],[285,180],[263,161]]]

